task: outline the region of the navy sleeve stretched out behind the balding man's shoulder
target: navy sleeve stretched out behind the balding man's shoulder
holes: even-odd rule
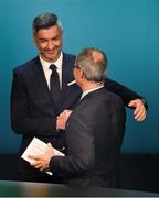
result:
[[[146,109],[148,108],[148,105],[142,96],[140,96],[137,92],[135,92],[134,90],[123,86],[121,84],[118,84],[115,80],[106,78],[105,87],[109,91],[117,94],[123,99],[123,102],[125,106],[128,106],[130,100],[134,100],[134,99],[142,100],[144,99],[144,105],[145,105]]]

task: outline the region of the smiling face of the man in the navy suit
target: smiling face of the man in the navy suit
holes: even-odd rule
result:
[[[63,32],[57,25],[40,29],[34,35],[36,47],[46,62],[55,62],[62,51]]]

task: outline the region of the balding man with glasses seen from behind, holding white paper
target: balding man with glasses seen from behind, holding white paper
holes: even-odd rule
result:
[[[68,185],[116,187],[125,108],[121,99],[104,87],[106,64],[106,55],[97,48],[80,53],[74,76],[83,94],[66,123],[67,155],[54,156],[50,144],[32,164],[63,174]]]

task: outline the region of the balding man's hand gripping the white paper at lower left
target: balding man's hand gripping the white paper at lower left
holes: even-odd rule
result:
[[[47,150],[44,154],[42,155],[29,155],[29,158],[33,158],[35,160],[33,163],[31,163],[31,166],[34,166],[35,168],[40,169],[40,170],[44,170],[47,169],[50,167],[50,160],[53,156],[53,147],[52,145],[49,143],[47,144]]]

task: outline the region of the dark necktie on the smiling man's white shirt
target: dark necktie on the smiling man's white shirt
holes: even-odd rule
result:
[[[57,108],[61,98],[60,79],[59,79],[59,74],[56,72],[56,66],[50,65],[50,69],[52,69],[52,74],[50,77],[50,90],[54,105]]]

